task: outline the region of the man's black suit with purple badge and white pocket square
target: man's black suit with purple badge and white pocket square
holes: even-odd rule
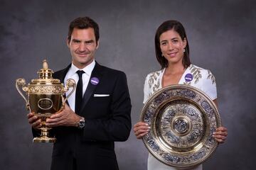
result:
[[[71,64],[70,64],[71,65]],[[70,65],[53,74],[64,81]],[[118,169],[114,141],[125,141],[131,130],[131,101],[124,72],[95,64],[82,101],[81,115],[85,118],[84,130],[73,127],[53,128],[57,138],[53,146],[51,169],[115,170]],[[91,79],[90,78],[90,79]],[[95,97],[94,94],[110,96]],[[74,162],[71,163],[73,161]]]

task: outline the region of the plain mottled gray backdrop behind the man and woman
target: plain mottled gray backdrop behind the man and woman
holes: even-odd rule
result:
[[[142,110],[146,74],[160,69],[154,55],[156,28],[169,19],[183,23],[191,60],[210,69],[228,140],[204,169],[254,169],[255,1],[0,1],[0,169],[49,169],[52,145],[33,144],[25,103],[14,86],[37,77],[41,61],[54,71],[70,63],[68,24],[90,16],[100,25],[101,64],[127,74],[132,124]],[[121,170],[146,169],[147,151],[133,132],[116,143]]]

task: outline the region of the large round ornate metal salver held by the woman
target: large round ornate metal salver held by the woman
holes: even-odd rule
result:
[[[156,91],[144,104],[140,120],[151,127],[142,137],[146,149],[166,165],[196,166],[218,147],[213,138],[221,126],[218,108],[193,86],[177,84]]]

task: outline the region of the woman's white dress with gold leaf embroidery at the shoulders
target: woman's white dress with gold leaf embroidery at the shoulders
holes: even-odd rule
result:
[[[151,72],[146,76],[145,84],[144,84],[144,101],[149,99],[149,97],[154,94],[154,92],[158,91],[162,88],[161,80],[164,74],[164,70],[162,69],[157,72]],[[183,73],[178,84],[188,84],[194,86],[201,91],[205,92],[212,100],[217,98],[217,89],[215,83],[215,77],[208,69],[203,69],[191,64],[186,71]],[[149,154],[148,158],[148,170],[175,170],[176,167],[167,166],[159,162],[154,156]],[[193,167],[190,170],[201,170],[203,169],[202,164]]]

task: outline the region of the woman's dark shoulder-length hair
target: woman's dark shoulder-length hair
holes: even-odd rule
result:
[[[182,64],[185,68],[188,68],[188,66],[191,64],[189,59],[189,46],[188,46],[188,38],[186,37],[186,31],[183,28],[182,24],[175,20],[165,21],[164,23],[159,26],[156,30],[155,35],[155,50],[156,50],[156,59],[161,64],[161,68],[164,69],[165,67],[168,67],[168,61],[165,57],[162,56],[161,48],[160,48],[160,36],[162,33],[166,32],[167,30],[175,30],[178,35],[181,36],[181,39],[184,40],[186,38],[187,44],[185,47],[185,52],[182,60]]]

